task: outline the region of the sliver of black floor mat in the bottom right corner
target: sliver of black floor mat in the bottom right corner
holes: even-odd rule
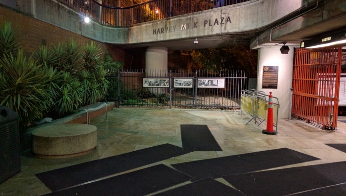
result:
[[[340,196],[346,195],[346,184],[324,187],[303,193],[295,194],[295,196]]]

